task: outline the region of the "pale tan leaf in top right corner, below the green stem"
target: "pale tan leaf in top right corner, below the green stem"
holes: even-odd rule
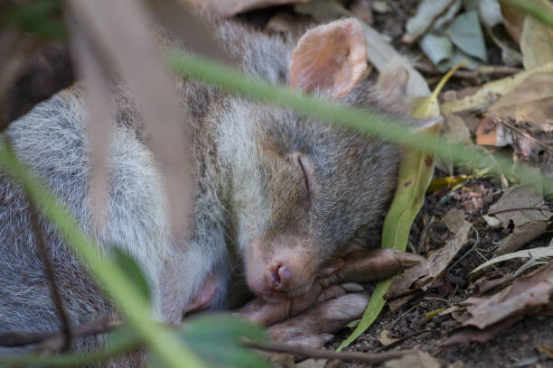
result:
[[[539,2],[553,10],[553,5],[548,0]],[[536,68],[553,61],[553,29],[532,16],[526,16],[520,36],[520,51],[524,69]]]

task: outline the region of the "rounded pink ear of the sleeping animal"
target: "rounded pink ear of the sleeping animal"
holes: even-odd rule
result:
[[[367,44],[361,24],[344,19],[320,25],[297,42],[290,59],[290,86],[347,95],[367,69]]]

